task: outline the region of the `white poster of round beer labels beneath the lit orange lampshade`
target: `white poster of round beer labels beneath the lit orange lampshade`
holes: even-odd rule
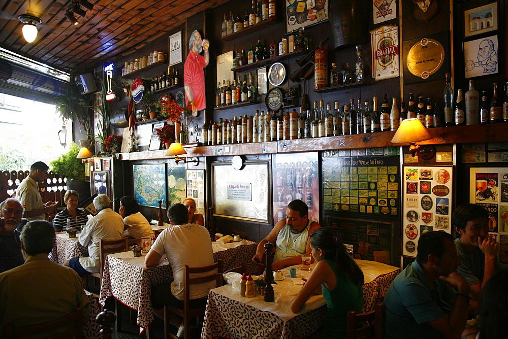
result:
[[[404,166],[402,171],[402,255],[414,258],[421,234],[452,231],[453,167]]]

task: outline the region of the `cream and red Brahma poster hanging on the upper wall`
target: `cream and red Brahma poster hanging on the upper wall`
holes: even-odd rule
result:
[[[385,25],[370,31],[372,44],[372,77],[375,80],[399,76],[399,28]]]

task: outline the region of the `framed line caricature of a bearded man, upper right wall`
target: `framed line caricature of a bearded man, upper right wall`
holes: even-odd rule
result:
[[[466,78],[498,73],[499,45],[497,35],[464,43],[464,69]]]

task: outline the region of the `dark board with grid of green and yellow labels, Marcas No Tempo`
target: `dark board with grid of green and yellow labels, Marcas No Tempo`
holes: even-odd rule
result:
[[[399,156],[324,157],[324,210],[400,215]]]

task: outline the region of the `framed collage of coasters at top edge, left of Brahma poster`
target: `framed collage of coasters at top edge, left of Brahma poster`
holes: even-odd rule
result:
[[[328,20],[328,0],[284,1],[286,32]]]

